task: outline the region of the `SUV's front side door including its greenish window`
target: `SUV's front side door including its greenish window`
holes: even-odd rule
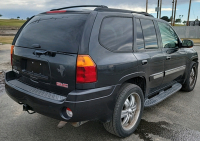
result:
[[[163,84],[181,79],[186,68],[186,52],[179,48],[179,38],[174,30],[166,23],[158,22],[165,55],[165,77]]]

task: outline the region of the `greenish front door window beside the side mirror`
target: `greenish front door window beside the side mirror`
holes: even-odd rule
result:
[[[167,24],[158,22],[162,43],[164,48],[176,48],[178,45],[178,36],[174,30]]]

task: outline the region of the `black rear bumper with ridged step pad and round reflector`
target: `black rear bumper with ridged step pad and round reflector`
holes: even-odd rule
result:
[[[60,97],[19,82],[13,71],[5,74],[5,89],[14,101],[29,105],[37,113],[69,122],[110,120],[118,87],[75,90]],[[67,116],[66,108],[72,110],[72,118]]]

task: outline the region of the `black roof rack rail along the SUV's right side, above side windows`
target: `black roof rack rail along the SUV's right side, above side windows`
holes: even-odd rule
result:
[[[114,9],[114,8],[104,8],[104,7],[102,7],[102,8],[95,8],[94,11],[136,13],[136,14],[142,14],[144,16],[154,17],[153,15],[146,13],[146,12],[137,12],[137,11],[131,11],[131,10],[124,10],[124,9]]]

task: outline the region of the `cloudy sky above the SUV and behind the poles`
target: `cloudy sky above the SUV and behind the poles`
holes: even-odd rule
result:
[[[149,9],[156,17],[155,7],[157,0],[148,0]],[[172,0],[162,0],[162,16],[171,16]],[[146,0],[0,0],[1,18],[16,18],[26,19],[38,13],[48,11],[53,8],[71,6],[71,5],[107,5],[112,8],[130,9],[134,11],[145,11]],[[183,15],[182,20],[187,19],[189,0],[178,0],[176,18]],[[197,16],[200,19],[200,0],[192,0],[190,12],[190,20],[195,20]]]

